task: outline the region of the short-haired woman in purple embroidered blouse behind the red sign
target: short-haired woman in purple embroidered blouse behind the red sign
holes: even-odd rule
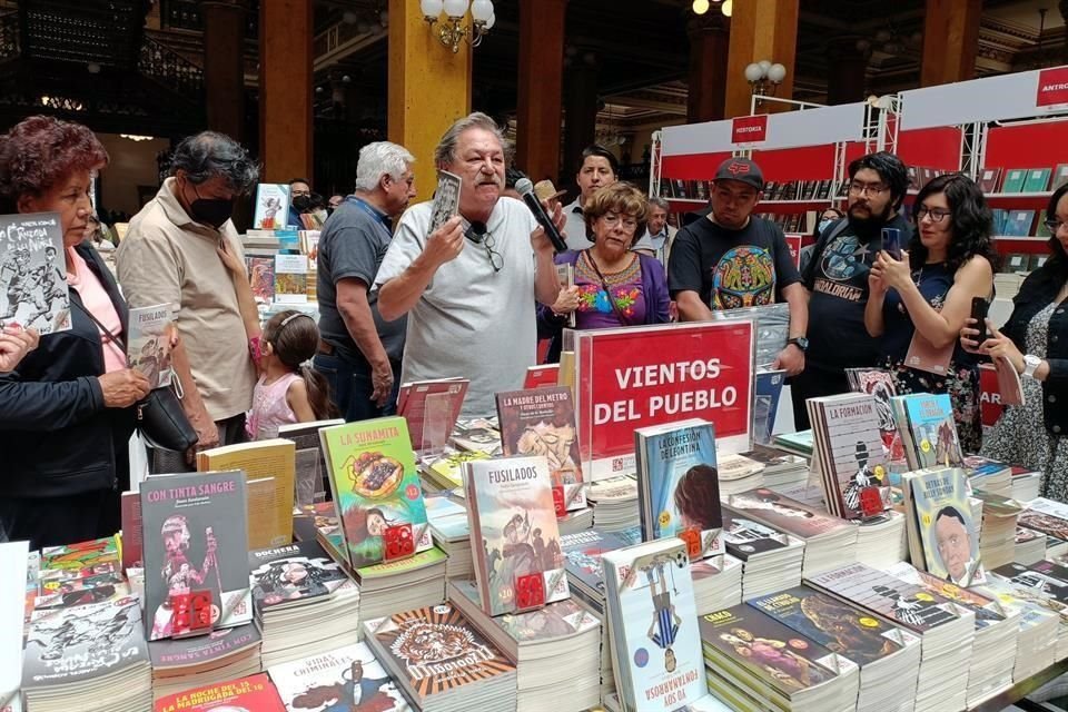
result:
[[[649,201],[626,182],[601,188],[582,209],[593,247],[556,256],[574,265],[575,285],[561,290],[552,307],[538,307],[538,336],[553,338],[550,362],[560,359],[561,330],[568,315],[575,328],[596,329],[668,322],[668,280],[655,257],[631,250],[645,234]]]

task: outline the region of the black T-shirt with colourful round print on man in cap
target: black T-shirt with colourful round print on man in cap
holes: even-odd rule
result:
[[[679,230],[668,260],[672,298],[696,291],[712,309],[782,301],[783,288],[798,281],[787,238],[763,218],[751,218],[740,230],[701,218]]]

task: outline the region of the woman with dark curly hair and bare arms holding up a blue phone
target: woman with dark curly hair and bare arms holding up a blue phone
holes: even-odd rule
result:
[[[993,296],[993,215],[973,180],[947,174],[916,196],[912,217],[908,251],[882,250],[872,265],[864,326],[880,338],[898,395],[949,394],[961,448],[977,453],[979,360],[957,342],[972,298]]]

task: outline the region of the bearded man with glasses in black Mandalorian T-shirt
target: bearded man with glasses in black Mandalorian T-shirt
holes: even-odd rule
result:
[[[849,165],[844,218],[821,233],[802,271],[809,290],[809,350],[804,372],[790,380],[793,421],[809,427],[808,398],[849,390],[846,368],[873,367],[878,343],[864,328],[868,273],[882,249],[882,229],[899,230],[904,247],[912,226],[899,214],[909,186],[904,164],[881,151]]]

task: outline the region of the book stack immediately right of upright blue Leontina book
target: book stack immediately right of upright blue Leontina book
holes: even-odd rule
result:
[[[801,583],[801,540],[724,507],[723,543],[731,556],[743,562],[743,601]]]

